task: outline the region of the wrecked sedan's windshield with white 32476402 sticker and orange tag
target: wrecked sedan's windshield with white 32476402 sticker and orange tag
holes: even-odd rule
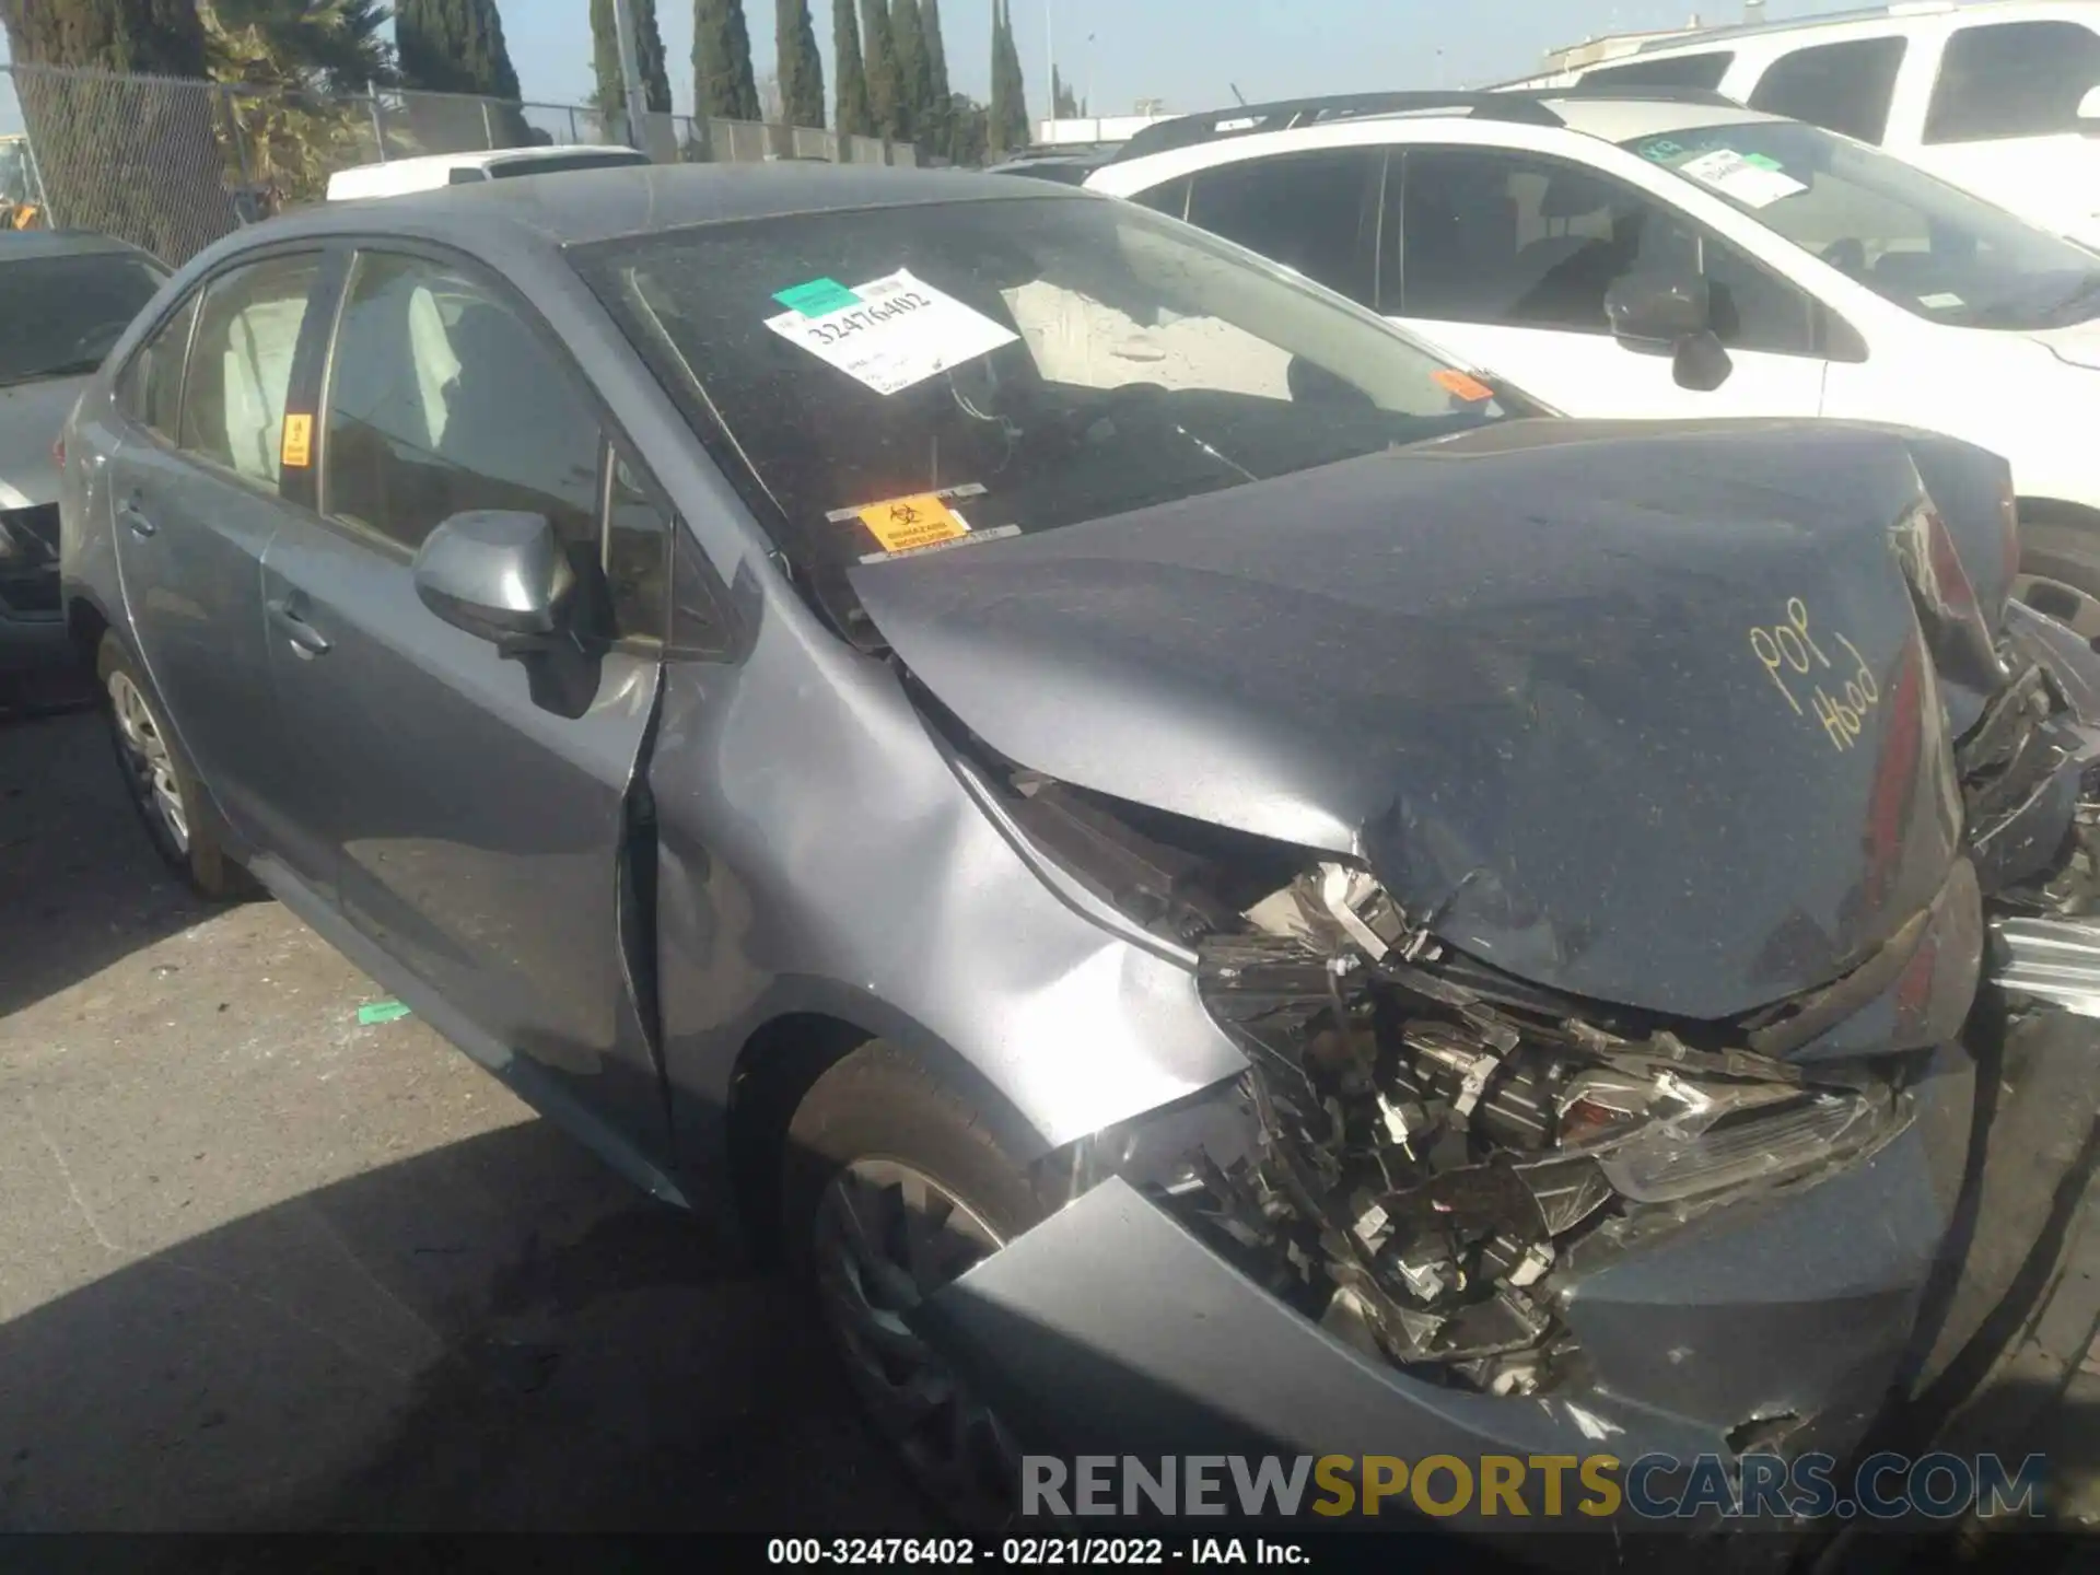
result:
[[[701,225],[573,256],[842,615],[857,563],[1539,410],[1105,197]]]

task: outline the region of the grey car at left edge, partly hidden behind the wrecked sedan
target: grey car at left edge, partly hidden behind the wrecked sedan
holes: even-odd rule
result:
[[[88,376],[166,277],[107,235],[0,231],[0,682],[71,659],[52,447]]]

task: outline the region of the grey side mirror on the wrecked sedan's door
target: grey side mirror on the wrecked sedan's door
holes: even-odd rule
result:
[[[546,514],[454,514],[416,550],[416,594],[454,628],[504,655],[540,649],[561,628],[575,573]]]

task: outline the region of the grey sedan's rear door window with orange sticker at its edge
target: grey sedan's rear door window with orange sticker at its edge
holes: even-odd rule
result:
[[[183,449],[269,491],[277,489],[284,399],[319,271],[319,252],[300,252],[212,279],[183,378]]]

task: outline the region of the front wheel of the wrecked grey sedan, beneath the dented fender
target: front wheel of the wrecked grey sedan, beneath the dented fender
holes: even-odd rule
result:
[[[785,1228],[846,1378],[920,1489],[976,1531],[1014,1514],[1021,1451],[905,1315],[1046,1214],[983,1115],[880,1040],[788,1130]]]

